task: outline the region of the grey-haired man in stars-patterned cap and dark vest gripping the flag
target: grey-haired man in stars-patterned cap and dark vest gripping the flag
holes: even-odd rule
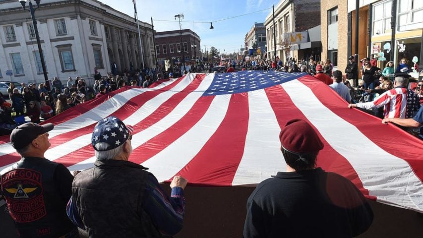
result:
[[[174,236],[182,229],[187,180],[175,176],[166,195],[148,168],[128,161],[132,132],[114,116],[94,127],[96,162],[75,176],[66,209],[90,238]]]

